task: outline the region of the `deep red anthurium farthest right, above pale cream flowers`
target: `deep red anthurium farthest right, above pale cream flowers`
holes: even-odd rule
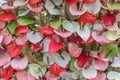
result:
[[[112,26],[115,22],[115,16],[114,15],[102,16],[102,21],[106,26]]]

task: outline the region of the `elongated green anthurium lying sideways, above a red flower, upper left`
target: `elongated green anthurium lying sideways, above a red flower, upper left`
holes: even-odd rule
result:
[[[17,19],[17,22],[19,23],[19,25],[22,25],[22,26],[26,26],[26,25],[30,25],[30,24],[35,23],[34,20],[28,19],[26,17],[19,17]]]

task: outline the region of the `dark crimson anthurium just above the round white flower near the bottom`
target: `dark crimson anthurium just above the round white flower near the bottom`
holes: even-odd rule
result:
[[[91,60],[91,57],[86,56],[84,53],[82,53],[78,57],[78,64],[79,64],[80,67],[83,67],[89,60]]]

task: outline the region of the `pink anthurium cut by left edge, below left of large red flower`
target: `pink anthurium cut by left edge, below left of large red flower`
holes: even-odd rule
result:
[[[0,66],[6,65],[11,57],[8,54],[0,54]]]

